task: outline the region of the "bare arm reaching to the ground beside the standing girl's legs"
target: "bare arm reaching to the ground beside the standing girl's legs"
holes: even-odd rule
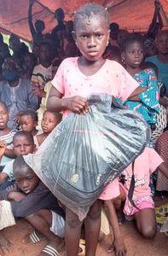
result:
[[[114,236],[113,247],[115,250],[115,255],[125,256],[126,255],[125,242],[123,241],[123,238],[119,230],[119,221],[117,218],[115,207],[113,206],[113,201],[112,200],[105,201],[105,206],[107,207],[108,221],[113,229],[113,236]]]

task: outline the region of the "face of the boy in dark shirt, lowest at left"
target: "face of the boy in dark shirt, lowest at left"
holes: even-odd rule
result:
[[[14,179],[21,191],[26,194],[32,192],[38,185],[38,176],[32,171],[30,167],[24,166],[23,169],[14,169]]]

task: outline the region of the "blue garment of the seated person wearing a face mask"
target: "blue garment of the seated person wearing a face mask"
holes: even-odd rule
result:
[[[6,80],[0,81],[0,101],[5,102],[9,109],[8,126],[11,129],[15,128],[14,116],[20,110],[38,109],[38,97],[32,93],[31,81],[28,79],[19,79],[15,87],[11,87]]]

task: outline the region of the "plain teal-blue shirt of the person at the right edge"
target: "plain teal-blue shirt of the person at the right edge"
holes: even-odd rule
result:
[[[168,63],[159,61],[157,55],[150,56],[145,61],[153,62],[158,67],[158,82],[165,84],[168,94]]]

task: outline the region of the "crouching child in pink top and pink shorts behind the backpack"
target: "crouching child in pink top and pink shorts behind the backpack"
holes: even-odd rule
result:
[[[109,223],[113,228],[114,233],[114,249],[116,255],[122,252],[125,255],[125,244],[119,231],[119,223],[115,218],[114,206],[121,207],[121,202],[125,201],[125,217],[134,217],[136,219],[137,230],[145,238],[153,238],[156,234],[156,218],[154,214],[154,201],[149,187],[150,174],[156,168],[168,177],[168,166],[160,158],[159,154],[154,148],[146,147],[142,154],[140,154],[134,164],[130,164],[123,175],[125,176],[125,183],[119,183],[119,186],[114,190],[120,189],[120,195],[113,199],[113,201],[105,201],[107,207]],[[135,188],[133,190],[132,201],[130,198],[130,182],[132,175],[135,177]],[[113,190],[111,190],[113,194]],[[112,246],[113,247],[113,246]]]

